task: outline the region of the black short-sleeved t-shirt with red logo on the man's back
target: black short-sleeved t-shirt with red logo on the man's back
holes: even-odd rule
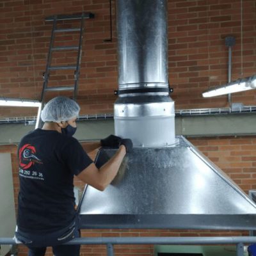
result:
[[[76,217],[74,175],[93,161],[73,137],[36,129],[20,141],[17,225],[24,232],[53,232]]]

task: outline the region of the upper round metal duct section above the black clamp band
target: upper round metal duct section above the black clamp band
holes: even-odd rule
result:
[[[166,0],[118,0],[116,15],[120,90],[168,87]]]

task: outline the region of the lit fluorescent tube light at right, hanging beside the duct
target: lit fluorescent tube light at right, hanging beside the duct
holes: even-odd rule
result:
[[[202,93],[203,97],[214,97],[228,93],[243,92],[256,88],[256,75],[238,79],[237,81],[217,86]]]

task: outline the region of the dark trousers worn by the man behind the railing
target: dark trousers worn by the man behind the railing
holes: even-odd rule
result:
[[[77,229],[76,221],[62,230],[44,235],[23,232],[17,228],[15,237],[21,243],[28,246],[28,256],[44,256],[47,246],[52,247],[52,252],[55,256],[79,256],[80,244],[63,245],[63,243],[66,243],[75,237],[80,237],[80,232]]]

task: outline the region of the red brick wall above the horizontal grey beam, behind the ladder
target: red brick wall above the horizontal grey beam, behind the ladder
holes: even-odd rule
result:
[[[169,0],[169,77],[177,109],[220,108],[227,97],[202,98],[201,93],[227,82],[225,36],[235,36],[232,79],[252,76],[256,68],[256,3],[243,1],[243,58],[241,58],[240,0]],[[113,111],[117,88],[115,8],[114,39],[109,38],[108,0],[2,0],[0,2],[0,96],[40,99],[53,14],[93,12],[84,33],[79,103],[81,114]],[[77,22],[73,22],[76,26]],[[70,24],[68,24],[70,26]],[[73,45],[77,36],[59,35]],[[243,70],[241,61],[243,59]],[[74,61],[74,54],[57,52],[56,65]],[[243,74],[242,74],[243,73]],[[55,72],[51,85],[72,84],[73,72]],[[47,99],[56,96],[47,93]],[[64,95],[68,95],[64,93]],[[255,90],[236,93],[234,102],[255,104]],[[0,108],[0,116],[35,115],[35,109]]]

